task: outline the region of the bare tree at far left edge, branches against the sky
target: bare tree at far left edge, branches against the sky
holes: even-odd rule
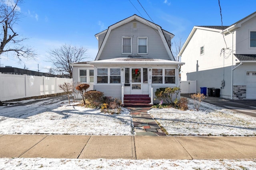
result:
[[[18,33],[14,31],[14,25],[21,17],[18,2],[20,0],[0,0],[0,24],[3,28],[0,33],[0,55],[13,52],[22,61],[23,58],[34,58],[35,53],[31,48],[20,44],[26,38],[18,38]]]

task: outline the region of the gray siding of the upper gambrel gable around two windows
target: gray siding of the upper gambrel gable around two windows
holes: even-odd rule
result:
[[[136,28],[133,28],[133,22],[137,23]],[[122,54],[122,37],[132,37],[131,55],[133,56],[138,53],[138,37],[148,37],[148,54],[139,55],[147,58],[170,60],[158,30],[136,20],[112,29],[99,60],[127,57],[128,54]],[[166,40],[164,39],[164,41]]]

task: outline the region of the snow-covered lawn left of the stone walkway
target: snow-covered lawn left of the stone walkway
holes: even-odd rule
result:
[[[28,104],[29,103],[29,104]],[[128,109],[101,113],[59,98],[0,107],[0,134],[133,135]]]

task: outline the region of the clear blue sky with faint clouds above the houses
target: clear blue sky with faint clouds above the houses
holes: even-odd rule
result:
[[[150,18],[175,35],[173,41],[186,40],[194,25],[221,25],[218,0],[139,0]],[[255,12],[255,0],[220,0],[223,25],[231,25]],[[134,7],[135,6],[135,7]],[[87,61],[95,59],[98,41],[95,34],[134,14],[151,21],[138,0],[24,0],[19,4],[23,18],[16,32],[29,38],[36,61],[18,63],[10,55],[1,56],[1,66],[48,72],[47,51],[70,44],[88,49]]]

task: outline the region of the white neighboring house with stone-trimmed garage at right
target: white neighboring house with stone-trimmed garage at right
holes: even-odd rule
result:
[[[197,80],[197,92],[219,88],[222,98],[256,99],[256,12],[230,26],[194,26],[179,56],[187,63],[181,80]]]

